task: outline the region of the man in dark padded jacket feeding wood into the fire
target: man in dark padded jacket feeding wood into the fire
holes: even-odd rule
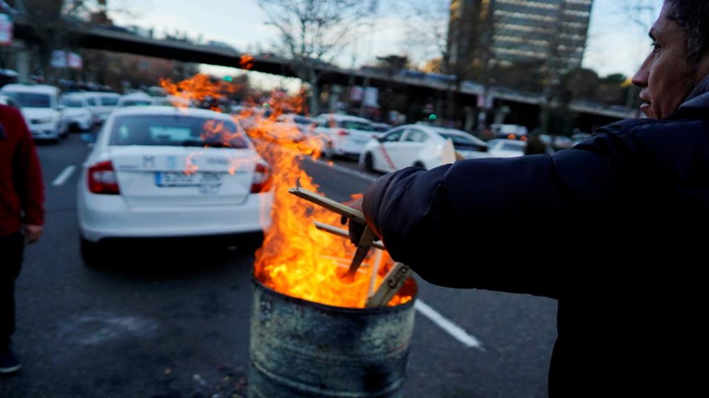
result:
[[[403,169],[362,202],[391,257],[430,283],[557,300],[550,397],[706,390],[709,1],[666,0],[650,35],[633,79],[647,119],[552,156]]]

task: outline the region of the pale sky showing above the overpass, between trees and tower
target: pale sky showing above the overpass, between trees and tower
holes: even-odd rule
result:
[[[407,54],[418,62],[434,58],[434,52],[415,52],[406,46],[405,23],[387,8],[391,0],[380,0],[380,8],[386,10],[376,21],[376,28],[361,35],[346,54],[336,62],[342,67],[358,67],[374,62],[376,56]],[[642,15],[642,23],[632,21],[623,10],[629,1],[594,0],[588,42],[583,66],[595,70],[601,76],[621,73],[632,76],[640,67],[650,50],[647,30],[657,17],[661,0],[646,0],[657,5],[654,15]],[[175,30],[188,33],[189,37],[201,35],[203,40],[226,42],[244,52],[268,52],[278,41],[277,30],[267,24],[268,16],[257,0],[112,0],[112,8],[130,10],[130,13],[112,13],[118,25],[138,25],[155,28],[158,35]],[[408,50],[407,50],[408,49]],[[407,53],[408,51],[408,53]],[[234,69],[203,67],[213,74],[234,74]],[[252,74],[252,80],[265,86],[291,85],[286,78],[274,78]]]

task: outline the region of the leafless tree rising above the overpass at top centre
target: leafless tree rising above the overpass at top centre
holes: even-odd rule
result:
[[[333,62],[373,17],[378,0],[259,0],[281,35],[280,50],[311,89],[310,112],[319,109],[318,67]]]

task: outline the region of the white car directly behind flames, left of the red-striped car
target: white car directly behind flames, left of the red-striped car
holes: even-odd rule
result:
[[[359,157],[364,145],[378,136],[372,127],[372,122],[364,118],[327,113],[319,115],[315,122],[317,127],[314,134],[323,136],[325,140],[323,154],[326,157],[352,155]]]

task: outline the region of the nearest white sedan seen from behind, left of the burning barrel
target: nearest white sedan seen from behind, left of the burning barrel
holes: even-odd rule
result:
[[[258,234],[270,224],[270,181],[269,166],[228,115],[116,109],[79,178],[82,256],[95,263],[104,239]]]

